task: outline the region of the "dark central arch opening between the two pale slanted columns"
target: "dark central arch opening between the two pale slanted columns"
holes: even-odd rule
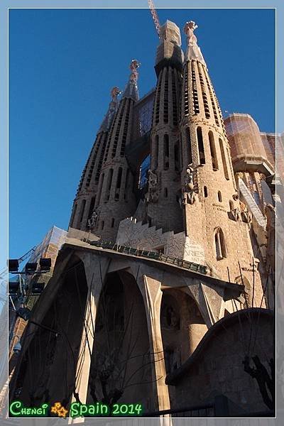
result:
[[[150,347],[136,279],[125,270],[107,274],[98,302],[87,403],[139,400],[148,405],[153,396]]]

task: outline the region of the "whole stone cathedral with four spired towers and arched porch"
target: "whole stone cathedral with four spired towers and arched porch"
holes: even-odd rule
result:
[[[273,412],[253,356],[273,381],[276,136],[223,119],[196,28],[184,53],[180,28],[160,27],[142,99],[138,60],[111,90],[11,382],[26,405]]]

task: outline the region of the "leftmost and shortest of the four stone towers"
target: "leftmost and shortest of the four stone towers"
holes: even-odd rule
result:
[[[82,231],[87,231],[89,229],[89,220],[92,218],[109,129],[119,105],[119,100],[117,99],[119,93],[118,87],[111,89],[109,109],[97,132],[92,151],[89,153],[89,158],[82,172],[82,177],[73,203],[69,226],[81,229]]]

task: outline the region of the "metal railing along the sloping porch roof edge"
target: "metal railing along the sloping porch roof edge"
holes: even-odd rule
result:
[[[139,250],[134,249],[133,247],[121,246],[119,244],[114,244],[109,241],[89,241],[87,239],[83,239],[83,241],[89,243],[91,246],[96,246],[101,249],[108,249],[117,251],[118,253],[130,254],[132,256],[138,256],[148,259],[153,259],[155,261],[161,261],[165,263],[169,263],[171,265],[179,266],[180,268],[187,269],[189,271],[202,273],[207,275],[207,266],[200,265],[198,263],[184,261],[180,258],[175,258],[172,256],[167,256],[163,253],[159,253],[158,251],[149,251],[149,250]]]

